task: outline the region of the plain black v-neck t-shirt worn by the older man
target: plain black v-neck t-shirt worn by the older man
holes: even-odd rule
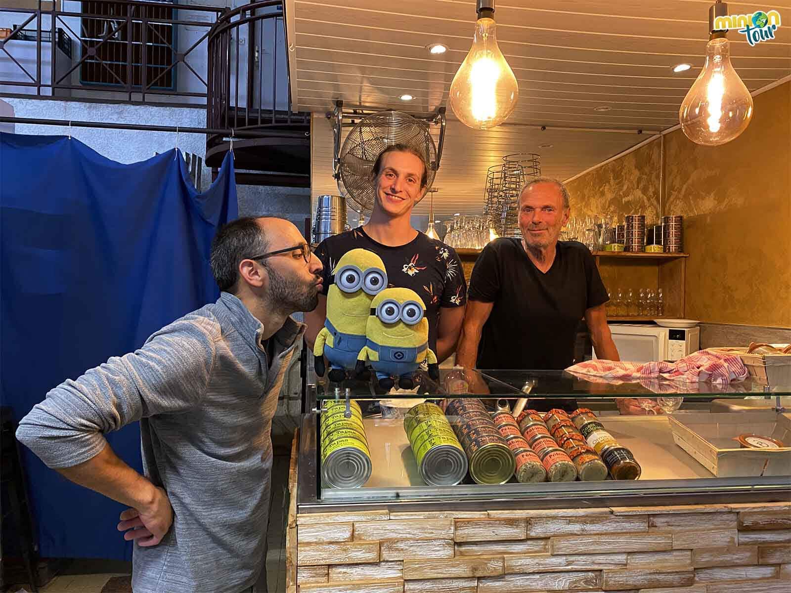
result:
[[[558,369],[573,364],[585,310],[608,297],[585,245],[558,241],[554,262],[543,273],[521,240],[503,238],[483,248],[469,299],[494,303],[483,326],[478,368]]]

